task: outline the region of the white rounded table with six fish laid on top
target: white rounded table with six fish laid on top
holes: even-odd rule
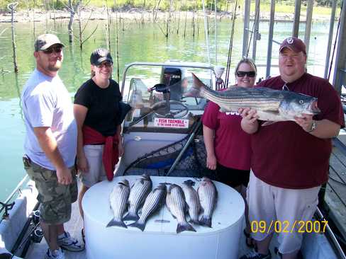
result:
[[[194,225],[196,232],[184,231],[177,234],[177,220],[167,210],[166,205],[153,214],[145,226],[145,231],[106,227],[113,219],[109,195],[119,180],[127,179],[130,186],[138,175],[118,176],[112,182],[97,183],[85,193],[82,206],[84,211],[84,231],[86,255],[88,259],[236,259],[242,228],[244,226],[245,205],[242,197],[233,188],[215,182],[218,202],[213,212],[212,227]],[[152,188],[159,183],[181,185],[185,177],[151,176]],[[198,188],[199,182],[194,188]],[[133,221],[125,221],[130,224]]]

